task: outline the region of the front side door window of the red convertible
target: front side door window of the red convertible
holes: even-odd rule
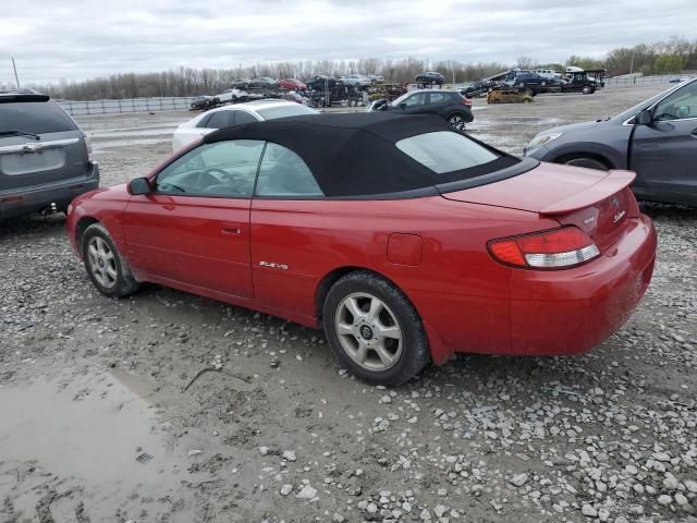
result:
[[[156,192],[248,198],[262,150],[264,142],[256,139],[204,144],[162,169],[157,175]]]

